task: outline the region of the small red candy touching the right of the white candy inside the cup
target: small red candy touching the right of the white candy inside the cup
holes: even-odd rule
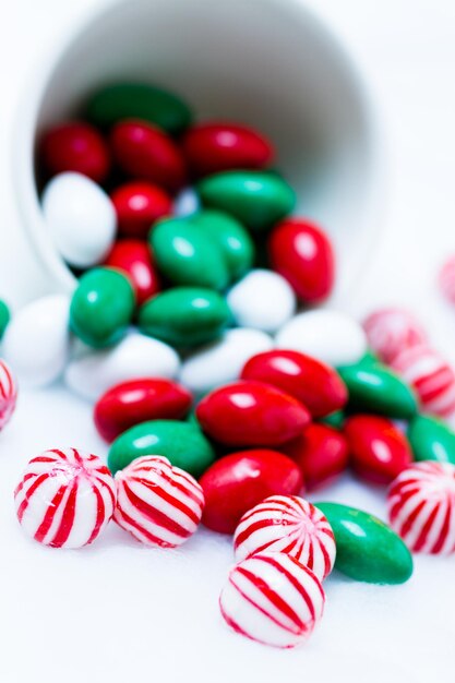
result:
[[[157,185],[144,180],[125,182],[110,195],[117,213],[119,235],[146,239],[151,227],[172,213],[172,200]]]

